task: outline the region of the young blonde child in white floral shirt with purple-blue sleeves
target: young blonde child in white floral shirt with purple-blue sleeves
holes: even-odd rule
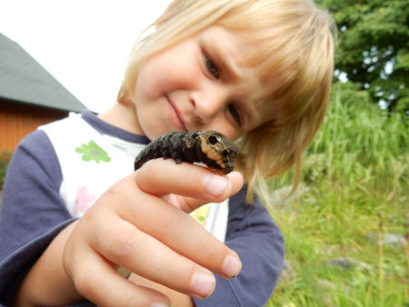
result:
[[[40,127],[15,150],[1,303],[263,306],[271,296],[284,242],[255,194],[294,164],[298,182],[328,103],[333,23],[308,0],[175,0],[155,26],[135,45],[118,104]],[[172,159],[133,172],[151,140],[198,130],[235,140],[240,173]]]

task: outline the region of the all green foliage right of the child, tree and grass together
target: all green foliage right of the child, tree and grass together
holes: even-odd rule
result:
[[[334,84],[296,193],[294,172],[268,182],[286,255],[266,306],[409,306],[409,0],[318,5]]]

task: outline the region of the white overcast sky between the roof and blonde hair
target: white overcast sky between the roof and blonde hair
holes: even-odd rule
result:
[[[170,2],[0,0],[0,33],[100,113],[115,104],[136,38]]]

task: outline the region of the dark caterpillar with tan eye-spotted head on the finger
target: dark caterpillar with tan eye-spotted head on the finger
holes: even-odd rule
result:
[[[173,158],[176,163],[205,163],[226,174],[234,170],[236,155],[233,142],[216,131],[172,132],[158,137],[137,155],[135,171],[151,159]]]

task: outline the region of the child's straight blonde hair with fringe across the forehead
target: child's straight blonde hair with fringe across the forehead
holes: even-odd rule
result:
[[[138,71],[150,57],[197,35],[211,25],[224,26],[257,45],[245,64],[258,68],[264,84],[282,81],[265,101],[273,120],[236,141],[238,165],[248,184],[246,202],[254,192],[268,200],[265,178],[294,164],[295,191],[302,153],[324,120],[334,73],[335,25],[309,0],[175,0],[155,25],[152,35],[131,52],[119,102],[133,102]],[[292,193],[293,193],[292,192]]]

